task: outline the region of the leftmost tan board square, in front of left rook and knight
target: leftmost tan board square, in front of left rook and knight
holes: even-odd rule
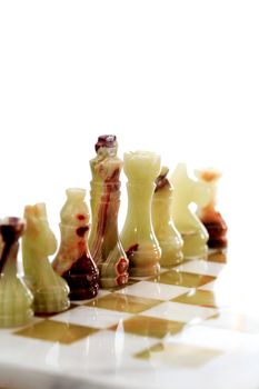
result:
[[[97,329],[90,327],[43,320],[20,331],[16,331],[13,335],[70,345],[97,331]]]

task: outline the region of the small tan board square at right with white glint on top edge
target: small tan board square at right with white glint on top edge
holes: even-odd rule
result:
[[[173,302],[189,303],[192,306],[201,306],[207,308],[217,308],[215,293],[208,290],[191,289],[188,293],[171,299]]]

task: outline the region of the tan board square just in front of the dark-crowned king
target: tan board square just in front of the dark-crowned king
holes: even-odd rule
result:
[[[104,308],[127,313],[140,313],[160,303],[160,300],[143,297],[128,296],[122,293],[110,293],[86,303],[88,307]]]

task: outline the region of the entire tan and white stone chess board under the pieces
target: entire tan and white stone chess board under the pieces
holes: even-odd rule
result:
[[[186,260],[1,329],[0,387],[258,388],[259,319],[220,300],[227,267],[223,253]]]

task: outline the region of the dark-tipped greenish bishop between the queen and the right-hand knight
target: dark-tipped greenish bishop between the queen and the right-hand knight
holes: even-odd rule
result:
[[[161,248],[162,267],[172,267],[183,260],[183,241],[171,217],[173,189],[167,177],[168,171],[166,167],[161,169],[152,198],[152,223]]]

